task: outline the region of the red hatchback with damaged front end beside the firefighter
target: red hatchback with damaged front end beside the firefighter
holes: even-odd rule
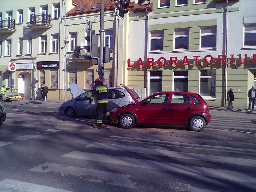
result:
[[[193,131],[202,131],[211,115],[205,100],[197,93],[162,91],[140,102],[111,111],[114,121],[124,129],[135,124],[187,125]]]

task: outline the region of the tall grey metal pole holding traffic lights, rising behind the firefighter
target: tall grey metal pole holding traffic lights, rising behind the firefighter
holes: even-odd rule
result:
[[[105,0],[101,0],[100,4],[100,30],[99,30],[99,79],[103,82],[103,47],[104,47],[104,7],[105,7]]]

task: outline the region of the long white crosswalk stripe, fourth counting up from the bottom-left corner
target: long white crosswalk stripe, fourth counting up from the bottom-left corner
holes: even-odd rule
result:
[[[111,149],[111,150],[118,150],[118,151],[129,151],[129,152],[152,154],[152,155],[162,155],[166,157],[203,160],[203,161],[210,161],[210,162],[229,163],[229,164],[235,164],[235,165],[245,165],[245,166],[256,167],[256,160],[242,159],[242,158],[235,158],[235,157],[221,157],[221,156],[215,156],[215,155],[184,153],[184,152],[178,152],[178,151],[168,151],[168,150],[162,150],[162,149],[133,147],[128,145],[105,144],[105,143],[97,143],[97,142],[87,145],[86,147],[103,148],[103,149]]]

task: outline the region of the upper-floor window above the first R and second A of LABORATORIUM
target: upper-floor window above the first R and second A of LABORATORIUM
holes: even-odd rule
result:
[[[188,49],[189,29],[175,29],[174,49]]]

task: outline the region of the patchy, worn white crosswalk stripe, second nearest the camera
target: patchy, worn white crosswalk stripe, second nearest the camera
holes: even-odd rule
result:
[[[99,171],[94,169],[86,169],[81,167],[65,166],[55,163],[43,163],[36,167],[29,169],[30,171],[37,172],[57,172],[62,175],[85,175],[84,179],[88,181],[95,181],[105,184],[118,185],[123,187],[135,188],[133,185],[137,183],[132,183],[128,177],[131,175],[124,175],[120,173],[112,173],[106,171]],[[95,178],[97,177],[97,178]]]

